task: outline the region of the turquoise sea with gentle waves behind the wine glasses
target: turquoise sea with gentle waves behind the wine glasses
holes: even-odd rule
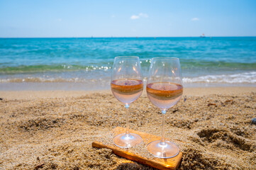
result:
[[[256,86],[256,37],[0,38],[0,91],[110,89],[113,59],[178,57],[184,87]]]

